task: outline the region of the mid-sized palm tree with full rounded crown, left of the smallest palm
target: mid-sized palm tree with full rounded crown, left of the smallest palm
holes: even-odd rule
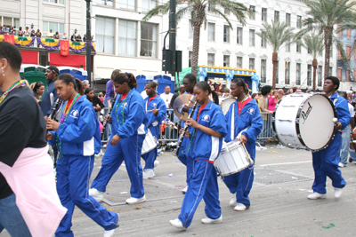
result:
[[[272,24],[263,23],[261,32],[256,35],[260,36],[272,47],[272,63],[273,63],[273,80],[272,89],[276,89],[276,70],[278,64],[279,49],[285,43],[295,42],[294,28],[289,28],[286,22],[279,22],[272,20]]]

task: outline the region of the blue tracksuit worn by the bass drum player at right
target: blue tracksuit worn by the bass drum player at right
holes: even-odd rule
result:
[[[332,95],[330,99],[336,107],[337,120],[342,123],[342,129],[344,129],[352,119],[347,101],[343,97],[337,96],[337,93]],[[312,167],[314,168],[315,173],[312,189],[315,193],[327,193],[327,176],[328,178],[331,178],[334,187],[343,188],[346,186],[346,181],[341,176],[341,171],[338,169],[341,145],[341,133],[340,130],[337,130],[335,138],[327,148],[312,153]]]

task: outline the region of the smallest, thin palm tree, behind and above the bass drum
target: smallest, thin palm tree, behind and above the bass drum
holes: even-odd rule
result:
[[[312,33],[311,36],[303,36],[303,46],[312,54],[312,91],[316,90],[316,77],[318,67],[318,54],[324,50],[323,36]]]

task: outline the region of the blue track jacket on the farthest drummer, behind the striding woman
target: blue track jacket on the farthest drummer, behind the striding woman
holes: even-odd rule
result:
[[[162,121],[164,119],[166,119],[166,103],[165,103],[165,101],[160,96],[157,96],[155,99],[151,99],[150,104],[149,104],[149,97],[147,97],[144,100],[144,105],[145,105],[146,111],[152,110],[154,108],[160,109],[158,111],[157,116],[153,115],[152,112],[148,112],[146,114],[146,117],[148,119],[147,126],[150,127],[150,125],[157,126],[159,124],[162,124]],[[152,124],[152,122],[155,122],[155,121],[157,121],[158,123]]]

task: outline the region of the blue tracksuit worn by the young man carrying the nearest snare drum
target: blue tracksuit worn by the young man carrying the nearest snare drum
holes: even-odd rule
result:
[[[232,121],[232,108],[234,108],[234,119]],[[255,141],[258,134],[263,128],[263,119],[260,114],[260,109],[255,102],[255,99],[249,101],[241,110],[239,114],[238,100],[236,100],[230,107],[229,112],[225,115],[228,135],[226,135],[225,142],[231,142],[238,137],[242,130],[242,135],[247,137],[248,154],[255,162]],[[231,127],[234,126],[234,132],[231,134]],[[248,129],[247,129],[248,128]],[[247,130],[246,130],[247,129]],[[232,136],[231,136],[232,135]],[[232,137],[232,138],[231,138]],[[233,174],[223,178],[223,182],[228,186],[231,194],[236,193],[236,200],[238,203],[250,206],[248,194],[251,191],[254,182],[254,166],[242,170],[239,173]]]

